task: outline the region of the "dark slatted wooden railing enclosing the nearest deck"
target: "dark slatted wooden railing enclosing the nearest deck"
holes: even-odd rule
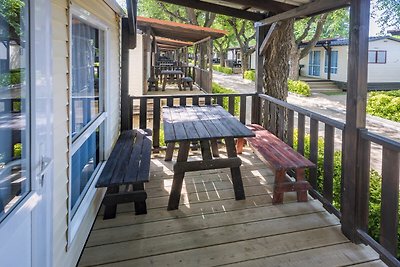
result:
[[[248,99],[248,98],[251,98]],[[250,101],[247,101],[250,100]],[[312,162],[318,164],[319,153],[323,153],[322,179],[318,177],[317,169],[310,170],[308,181],[313,189],[310,195],[318,199],[325,209],[342,219],[340,207],[343,194],[342,186],[336,186],[335,191],[335,169],[344,166],[344,131],[345,123],[309,111],[307,109],[289,104],[264,94],[204,94],[204,95],[174,95],[174,96],[143,96],[131,97],[131,110],[138,107],[137,116],[131,112],[132,127],[152,128],[153,146],[155,150],[162,149],[160,146],[161,129],[161,107],[173,105],[203,105],[220,104],[231,114],[234,114],[244,123],[258,122],[264,128],[275,133],[281,140],[296,150],[306,155]],[[248,103],[253,108],[251,120],[246,109]],[[297,129],[297,130],[296,130]],[[323,139],[319,142],[319,139]],[[360,241],[371,245],[380,255],[382,260],[390,266],[399,266],[397,257],[398,247],[398,225],[399,225],[399,169],[400,169],[400,143],[388,138],[368,132],[366,129],[359,131],[359,142],[362,146],[362,160],[360,188],[357,188],[357,229]],[[368,233],[369,219],[369,192],[370,184],[370,155],[371,144],[381,146],[382,157],[382,188],[381,188],[381,214],[380,214],[380,238],[379,242],[374,240]],[[319,147],[319,145],[323,147]],[[340,166],[337,157],[340,154]],[[336,159],[335,159],[336,158]],[[321,164],[321,162],[320,162]],[[337,176],[336,176],[337,179]],[[340,184],[342,184],[343,171],[341,171]],[[337,182],[337,180],[336,180]],[[339,194],[339,197],[338,197]],[[339,198],[339,200],[338,200]],[[335,202],[336,199],[336,202]]]

